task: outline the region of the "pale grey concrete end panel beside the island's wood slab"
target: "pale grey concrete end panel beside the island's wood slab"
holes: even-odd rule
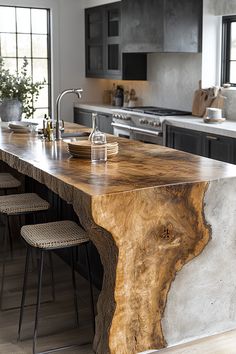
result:
[[[212,239],[177,273],[162,321],[168,345],[236,327],[236,179],[209,183],[204,215]]]

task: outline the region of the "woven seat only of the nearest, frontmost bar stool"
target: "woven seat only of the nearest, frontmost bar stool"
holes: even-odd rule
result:
[[[86,232],[70,220],[25,225],[21,228],[21,235],[30,246],[47,250],[78,246],[89,241]]]

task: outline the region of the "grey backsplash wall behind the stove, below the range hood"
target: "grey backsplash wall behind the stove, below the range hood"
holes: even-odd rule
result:
[[[155,53],[148,54],[147,81],[100,82],[101,92],[96,96],[84,96],[84,101],[101,103],[104,90],[111,90],[113,83],[122,85],[124,90],[135,90],[137,105],[151,105],[191,110],[194,91],[201,79],[201,54]],[[90,80],[90,79],[88,79]]]

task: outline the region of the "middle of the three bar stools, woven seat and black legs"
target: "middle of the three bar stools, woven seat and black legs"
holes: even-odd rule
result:
[[[36,193],[24,193],[24,194],[9,194],[0,196],[0,215],[5,218],[5,233],[4,233],[4,247],[2,256],[2,279],[0,289],[0,309],[10,310],[13,308],[3,308],[3,294],[5,283],[5,269],[8,244],[10,246],[11,258],[13,258],[13,240],[11,234],[10,218],[12,216],[32,214],[35,219],[36,213],[45,212],[49,209],[50,204],[39,197]],[[20,220],[22,223],[22,220]]]

